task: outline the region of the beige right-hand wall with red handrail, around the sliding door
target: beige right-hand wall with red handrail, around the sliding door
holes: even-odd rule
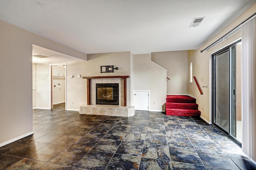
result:
[[[218,50],[222,49],[223,47],[231,44],[232,42],[240,39],[241,37],[241,30],[237,31],[228,39],[221,41],[208,51],[204,51],[200,53],[200,50],[206,48],[214,41],[217,41],[220,37],[228,33],[228,31],[235,28],[238,24],[244,21],[246,18],[254,14],[256,11],[256,4],[252,5],[246,12],[244,12],[241,16],[239,16],[236,20],[230,23],[226,28],[224,28],[220,33],[214,36],[210,41],[206,42],[200,49],[198,50],[190,50],[188,51],[188,68],[189,64],[193,63],[193,76],[198,78],[198,82],[200,86],[207,86],[208,88],[202,88],[203,95],[200,95],[198,88],[193,81],[192,84],[188,86],[188,93],[192,96],[196,97],[196,102],[199,105],[198,109],[201,111],[201,117],[204,118],[208,122],[212,122],[212,108],[211,108],[211,55]],[[190,74],[190,70],[188,71],[188,75]]]

